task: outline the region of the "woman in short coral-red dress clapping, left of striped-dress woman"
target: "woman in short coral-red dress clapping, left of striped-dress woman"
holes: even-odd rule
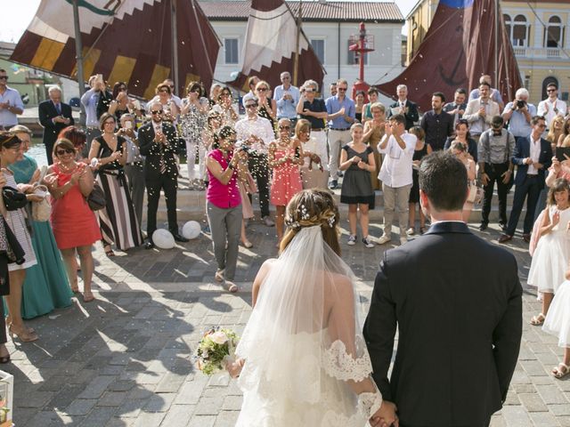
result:
[[[93,190],[93,173],[85,163],[75,161],[75,148],[69,140],[55,142],[53,157],[57,162],[49,167],[45,176],[45,183],[52,195],[53,235],[73,292],[79,292],[76,253],[79,255],[83,301],[91,302],[94,300],[91,292],[94,273],[92,250],[94,243],[101,239],[97,219],[86,201]]]

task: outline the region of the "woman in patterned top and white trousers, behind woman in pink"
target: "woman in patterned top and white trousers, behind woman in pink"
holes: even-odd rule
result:
[[[180,126],[186,141],[186,159],[188,165],[188,181],[190,189],[204,189],[202,179],[206,171],[206,148],[202,141],[202,132],[208,117],[209,103],[201,96],[202,87],[198,82],[190,82],[186,89],[188,96],[182,101]],[[198,157],[198,173],[196,158]]]

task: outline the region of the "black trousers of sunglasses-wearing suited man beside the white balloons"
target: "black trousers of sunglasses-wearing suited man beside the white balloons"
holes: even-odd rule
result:
[[[177,179],[169,175],[157,173],[145,174],[144,177],[147,193],[147,214],[146,232],[149,239],[152,233],[157,230],[157,211],[159,209],[160,190],[164,191],[167,202],[168,230],[171,233],[178,233],[178,222],[176,220],[176,189]]]

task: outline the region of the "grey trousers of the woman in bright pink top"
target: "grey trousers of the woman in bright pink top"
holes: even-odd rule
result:
[[[214,242],[218,270],[225,270],[224,277],[233,280],[238,263],[241,231],[241,205],[223,209],[208,202],[208,223]],[[225,243],[227,240],[227,249]]]

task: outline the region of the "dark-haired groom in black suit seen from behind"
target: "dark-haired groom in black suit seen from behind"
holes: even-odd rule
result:
[[[424,157],[419,197],[432,226],[387,251],[374,283],[363,334],[374,380],[398,408],[401,427],[488,426],[517,364],[517,261],[461,222],[467,182],[452,155]]]

